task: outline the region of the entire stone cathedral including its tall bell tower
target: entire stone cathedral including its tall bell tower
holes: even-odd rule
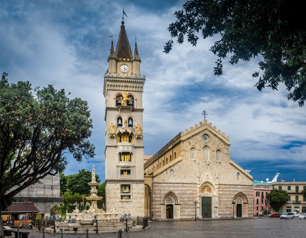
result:
[[[104,76],[107,209],[154,220],[253,216],[253,178],[230,159],[229,137],[206,120],[144,156],[140,62],[122,21]]]

